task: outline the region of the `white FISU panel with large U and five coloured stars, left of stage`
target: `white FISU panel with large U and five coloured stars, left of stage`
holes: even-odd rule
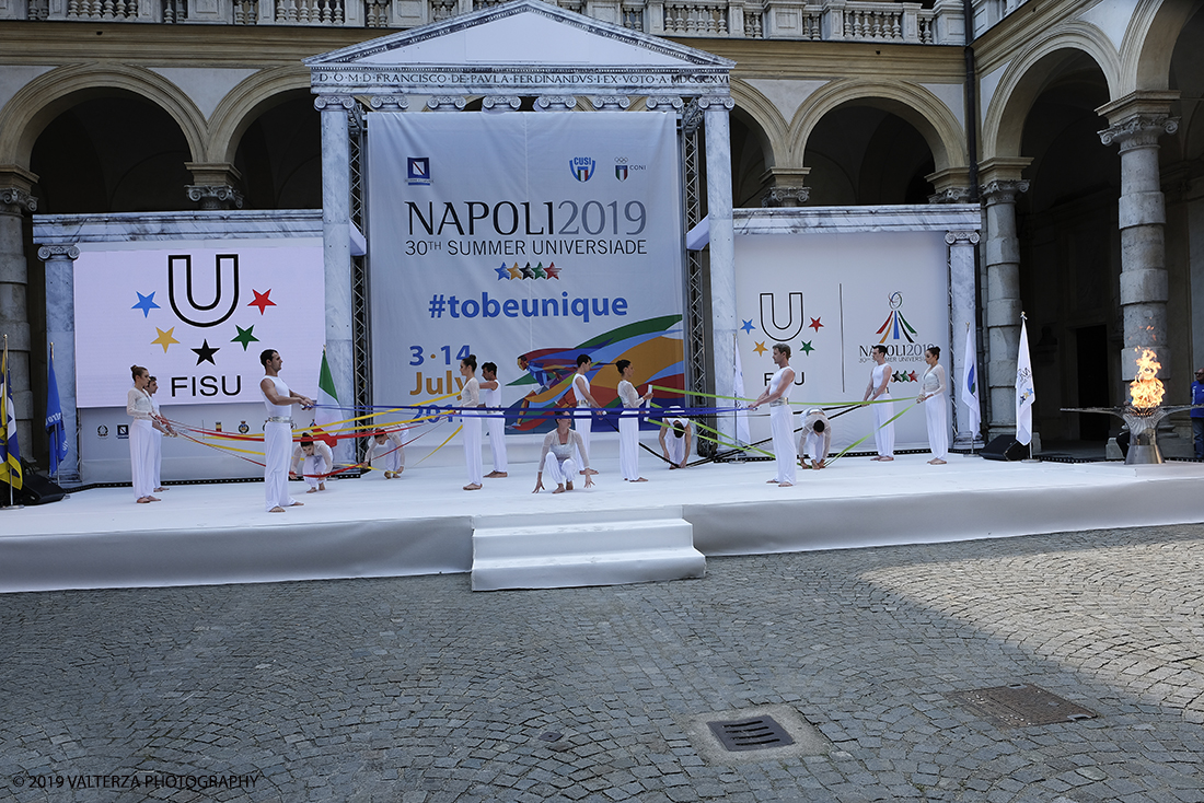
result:
[[[78,407],[124,408],[131,365],[158,378],[160,405],[261,403],[259,354],[268,348],[284,359],[290,386],[317,394],[320,240],[83,243],[79,252]]]

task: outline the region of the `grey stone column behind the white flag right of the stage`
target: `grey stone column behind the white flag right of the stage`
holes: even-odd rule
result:
[[[981,166],[986,217],[987,438],[1016,429],[1016,353],[1020,349],[1020,238],[1016,196],[1028,190],[1020,171],[1031,159],[991,159]]]

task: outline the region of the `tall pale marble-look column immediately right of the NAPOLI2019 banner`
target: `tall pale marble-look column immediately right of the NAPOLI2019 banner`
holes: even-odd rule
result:
[[[736,365],[736,241],[732,231],[732,154],[728,112],[731,98],[700,98],[707,142],[707,218],[710,225],[710,365],[715,392],[734,396]],[[728,442],[736,420],[720,415],[716,427]]]

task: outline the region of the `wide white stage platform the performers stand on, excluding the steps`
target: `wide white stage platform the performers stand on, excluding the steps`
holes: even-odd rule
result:
[[[464,470],[413,466],[327,483],[283,514],[264,512],[258,483],[177,485],[135,504],[128,488],[95,489],[43,507],[0,510],[0,591],[401,577],[472,568],[476,516],[591,516],[645,510],[692,526],[706,556],[748,555],[1204,521],[1204,465],[991,462],[928,455],[881,464],[845,457],[766,484],[768,462],[669,471],[644,455],[650,482],[620,479],[601,460],[591,489],[532,495],[535,466],[460,490]],[[467,581],[467,580],[466,580]]]

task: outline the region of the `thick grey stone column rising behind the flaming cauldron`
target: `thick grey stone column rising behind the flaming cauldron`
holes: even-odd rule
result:
[[[1158,137],[1179,130],[1169,117],[1170,101],[1179,93],[1139,91],[1100,106],[1109,126],[1099,132],[1104,144],[1116,143],[1121,153],[1121,313],[1125,348],[1121,379],[1137,374],[1144,349],[1158,355],[1161,379],[1170,378],[1167,342],[1167,249],[1163,226],[1165,202],[1158,171]]]

